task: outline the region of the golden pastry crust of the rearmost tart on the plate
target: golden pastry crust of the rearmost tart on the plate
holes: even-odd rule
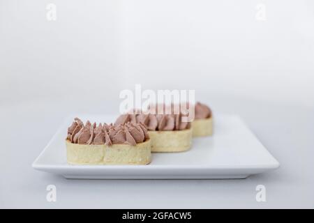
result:
[[[193,137],[207,137],[213,134],[213,117],[194,119],[192,122]]]

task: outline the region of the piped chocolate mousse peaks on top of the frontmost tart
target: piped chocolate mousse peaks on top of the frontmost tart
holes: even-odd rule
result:
[[[85,124],[80,118],[74,118],[72,125],[68,128],[66,138],[73,144],[129,144],[135,146],[149,139],[147,128],[142,123],[126,122],[119,125],[104,123]]]

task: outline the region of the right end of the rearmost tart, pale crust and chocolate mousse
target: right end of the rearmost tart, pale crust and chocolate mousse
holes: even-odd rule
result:
[[[195,105],[195,118],[192,122],[193,137],[204,137],[213,134],[213,117],[211,109],[200,102]]]

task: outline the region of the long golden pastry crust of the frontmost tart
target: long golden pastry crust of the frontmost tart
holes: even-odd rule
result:
[[[69,164],[149,164],[151,140],[135,146],[73,144],[66,140],[66,157]]]

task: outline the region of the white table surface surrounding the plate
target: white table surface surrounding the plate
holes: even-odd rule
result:
[[[65,100],[1,105],[0,208],[314,208],[313,109],[239,98],[211,107],[239,114],[281,167],[244,180],[67,180],[31,163],[68,114],[114,109]],[[56,185],[56,202],[46,200],[47,185]],[[257,185],[266,202],[255,200]]]

